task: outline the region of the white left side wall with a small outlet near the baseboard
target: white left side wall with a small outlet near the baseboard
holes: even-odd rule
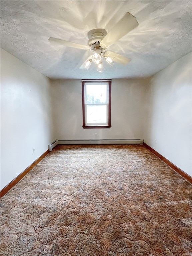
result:
[[[1,189],[54,139],[50,87],[47,77],[1,49]]]

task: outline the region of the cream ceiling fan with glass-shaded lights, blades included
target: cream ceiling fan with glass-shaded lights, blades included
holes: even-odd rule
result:
[[[137,26],[138,22],[136,18],[129,12],[126,12],[123,18],[111,29],[111,31],[109,31],[109,33],[103,28],[90,30],[87,34],[89,38],[87,45],[77,44],[54,37],[50,37],[49,41],[68,47],[93,51],[94,53],[89,56],[80,68],[89,70],[91,63],[93,62],[97,64],[97,71],[102,72],[104,70],[102,57],[110,66],[112,66],[114,62],[125,65],[131,61],[131,59],[123,55],[107,51],[107,48]]]

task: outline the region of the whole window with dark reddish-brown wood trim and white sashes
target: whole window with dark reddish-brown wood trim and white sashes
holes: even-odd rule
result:
[[[83,128],[111,128],[111,80],[82,80]]]

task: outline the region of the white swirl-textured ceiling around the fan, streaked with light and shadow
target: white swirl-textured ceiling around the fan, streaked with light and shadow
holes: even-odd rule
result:
[[[125,12],[139,26],[108,48],[125,66],[79,69],[90,51],[48,41],[87,45],[89,30],[108,32]],[[1,48],[51,79],[148,77],[192,51],[191,22],[191,1],[1,1]]]

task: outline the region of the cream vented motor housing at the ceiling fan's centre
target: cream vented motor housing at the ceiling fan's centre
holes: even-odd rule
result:
[[[101,40],[107,35],[107,32],[103,28],[96,28],[90,30],[88,33],[88,45],[91,47],[91,50],[94,51],[96,48],[102,50],[100,46]]]

